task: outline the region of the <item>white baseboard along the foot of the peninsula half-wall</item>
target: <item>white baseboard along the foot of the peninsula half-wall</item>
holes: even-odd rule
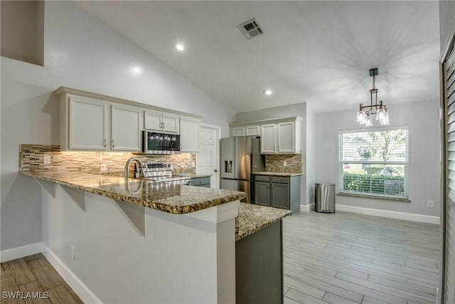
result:
[[[65,263],[48,248],[48,246],[45,246],[45,244],[43,244],[43,255],[48,259],[63,280],[73,288],[74,292],[84,303],[102,303],[95,293],[93,293],[92,290],[90,290],[90,288],[88,288],[87,285],[85,285],[80,278],[78,278],[75,273],[73,273],[73,271],[71,271],[70,268],[68,268],[68,266],[66,266]]]

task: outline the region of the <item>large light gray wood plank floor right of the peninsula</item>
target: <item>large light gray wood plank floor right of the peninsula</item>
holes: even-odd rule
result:
[[[284,303],[435,303],[439,226],[336,212],[284,219]]]

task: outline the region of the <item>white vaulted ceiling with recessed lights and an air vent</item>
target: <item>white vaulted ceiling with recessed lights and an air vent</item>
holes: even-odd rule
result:
[[[357,110],[370,99],[370,68],[389,106],[439,98],[438,1],[75,4],[236,112]],[[252,18],[264,35],[247,40],[237,26]]]

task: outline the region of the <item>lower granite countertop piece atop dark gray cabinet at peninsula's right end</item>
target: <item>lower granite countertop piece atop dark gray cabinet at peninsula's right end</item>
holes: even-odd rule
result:
[[[235,241],[240,241],[290,214],[290,210],[240,203],[239,214],[235,219]]]

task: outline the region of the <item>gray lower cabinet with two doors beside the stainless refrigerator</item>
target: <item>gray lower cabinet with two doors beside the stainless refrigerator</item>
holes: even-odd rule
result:
[[[300,176],[255,175],[255,204],[300,211]]]

